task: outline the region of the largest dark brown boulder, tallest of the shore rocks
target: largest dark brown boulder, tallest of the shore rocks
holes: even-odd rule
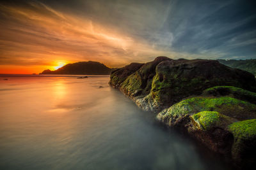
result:
[[[256,87],[253,74],[216,60],[173,60],[163,56],[146,64],[132,63],[116,69],[109,84],[140,103],[144,110],[150,108],[156,112],[186,97],[198,96],[210,87],[226,85],[251,91]]]

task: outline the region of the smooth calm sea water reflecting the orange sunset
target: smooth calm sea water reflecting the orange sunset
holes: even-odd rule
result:
[[[0,169],[227,169],[109,76],[0,78]]]

